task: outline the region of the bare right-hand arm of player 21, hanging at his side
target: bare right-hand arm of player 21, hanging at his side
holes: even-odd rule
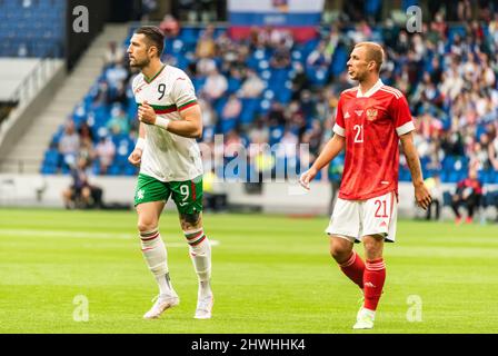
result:
[[[430,197],[429,189],[424,185],[420,160],[414,145],[414,131],[401,135],[399,138],[401,140],[402,151],[407,158],[408,168],[410,169],[411,181],[415,188],[415,199],[421,208],[427,209],[432,198]]]

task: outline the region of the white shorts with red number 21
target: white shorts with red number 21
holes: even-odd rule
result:
[[[398,201],[394,191],[368,200],[337,198],[326,233],[351,243],[359,243],[367,235],[382,235],[394,243],[397,217]]]

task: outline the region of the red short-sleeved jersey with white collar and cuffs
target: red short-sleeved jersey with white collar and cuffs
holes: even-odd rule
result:
[[[399,136],[415,130],[404,95],[379,81],[365,95],[342,91],[333,132],[346,138],[339,198],[366,200],[398,194]]]

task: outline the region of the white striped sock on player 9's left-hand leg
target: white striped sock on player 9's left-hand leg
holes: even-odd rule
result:
[[[159,285],[159,294],[172,295],[173,289],[169,278],[168,253],[159,230],[140,234],[143,258]]]

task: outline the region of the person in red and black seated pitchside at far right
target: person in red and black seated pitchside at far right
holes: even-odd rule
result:
[[[474,212],[480,205],[480,199],[482,197],[482,185],[477,179],[477,171],[475,169],[469,170],[469,176],[457,184],[457,190],[451,198],[451,208],[455,211],[456,222],[461,222],[461,215],[458,208],[464,205],[468,215],[466,222],[472,222]]]

